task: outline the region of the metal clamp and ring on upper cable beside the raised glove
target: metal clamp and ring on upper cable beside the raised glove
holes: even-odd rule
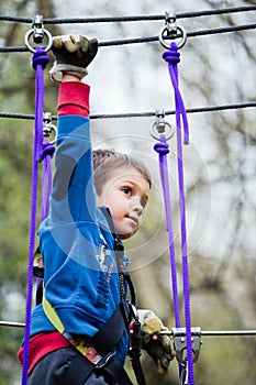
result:
[[[52,34],[44,29],[44,25],[43,25],[43,16],[40,15],[40,14],[36,14],[34,20],[33,20],[33,24],[32,24],[32,29],[29,30],[25,34],[25,45],[27,46],[27,48],[35,53],[36,50],[34,47],[31,46],[30,44],[30,37],[33,35],[33,40],[34,40],[34,43],[36,44],[40,44],[43,42],[45,35],[48,40],[48,43],[46,45],[46,47],[44,47],[45,52],[49,51],[52,45],[53,45],[53,36]]]

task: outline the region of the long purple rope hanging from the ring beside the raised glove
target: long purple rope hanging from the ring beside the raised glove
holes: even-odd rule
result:
[[[31,226],[29,240],[29,262],[26,279],[26,312],[24,330],[24,355],[22,365],[22,385],[26,385],[29,370],[29,351],[30,351],[30,329],[31,329],[31,309],[33,293],[33,261],[35,251],[35,232],[36,232],[36,207],[37,207],[37,178],[38,162],[43,155],[43,110],[44,110],[44,80],[43,69],[48,63],[45,51],[37,47],[33,55],[33,68],[36,72],[35,87],[35,125],[33,142],[33,165],[32,165],[32,185],[31,185]]]

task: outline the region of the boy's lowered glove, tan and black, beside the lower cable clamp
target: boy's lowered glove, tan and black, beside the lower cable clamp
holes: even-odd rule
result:
[[[142,349],[153,358],[157,372],[164,374],[175,358],[175,350],[170,337],[158,333],[168,329],[152,310],[138,310],[138,318],[142,324]]]

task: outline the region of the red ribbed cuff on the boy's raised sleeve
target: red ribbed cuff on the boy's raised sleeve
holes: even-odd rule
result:
[[[65,81],[59,86],[58,117],[77,114],[88,117],[90,87],[80,81]]]

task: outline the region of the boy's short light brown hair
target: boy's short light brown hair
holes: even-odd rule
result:
[[[97,195],[101,195],[102,187],[110,178],[113,170],[122,166],[132,166],[142,174],[152,187],[151,173],[143,162],[115,150],[93,150],[93,178]]]

